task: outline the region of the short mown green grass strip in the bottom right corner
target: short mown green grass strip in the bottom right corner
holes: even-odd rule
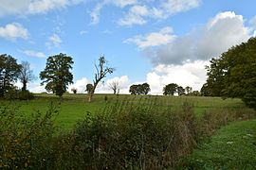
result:
[[[210,143],[200,144],[188,159],[188,169],[255,169],[256,119],[220,128]]]

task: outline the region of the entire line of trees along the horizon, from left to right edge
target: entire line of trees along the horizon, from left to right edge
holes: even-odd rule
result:
[[[191,87],[178,86],[170,83],[163,88],[165,95],[204,95],[241,98],[248,107],[256,110],[256,38],[251,38],[247,42],[229,48],[229,50],[219,58],[210,59],[210,66],[207,66],[207,81],[202,86],[200,93],[192,91]],[[46,84],[46,91],[62,96],[67,86],[73,83],[72,69],[73,60],[65,54],[50,56],[46,60],[46,68],[40,73]],[[108,74],[112,74],[115,68],[108,66],[107,60],[101,56],[99,63],[95,64],[95,77],[93,84],[87,84],[85,91],[89,93],[88,100],[91,101],[93,94],[101,82]],[[33,80],[29,63],[23,61],[21,64],[10,55],[0,55],[0,98],[8,96],[15,91],[15,82],[20,80],[23,87],[20,92],[27,91],[27,83]],[[109,87],[114,93],[119,93],[119,82],[112,82]],[[72,89],[74,93],[76,89]],[[148,83],[133,84],[129,92],[131,94],[148,94],[151,91]],[[17,93],[17,92],[16,92]]]

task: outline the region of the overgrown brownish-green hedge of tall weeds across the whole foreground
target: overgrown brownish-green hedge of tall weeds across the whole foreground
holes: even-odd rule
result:
[[[196,116],[186,100],[174,110],[142,97],[87,112],[63,134],[54,126],[58,108],[53,105],[32,117],[10,107],[0,111],[0,167],[18,169],[171,168],[218,127],[255,116],[253,110],[237,108]]]

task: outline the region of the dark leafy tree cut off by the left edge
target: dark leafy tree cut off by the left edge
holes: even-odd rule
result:
[[[0,97],[13,88],[20,73],[21,65],[13,57],[3,54],[0,55]]]

